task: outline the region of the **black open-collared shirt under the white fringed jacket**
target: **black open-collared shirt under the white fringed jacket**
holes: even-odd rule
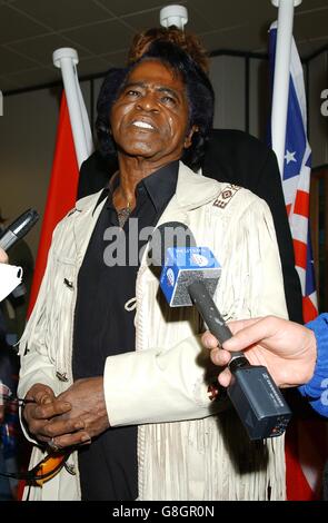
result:
[[[102,376],[106,358],[135,351],[135,313],[125,304],[136,296],[139,263],[109,267],[107,249],[126,249],[129,259],[129,227],[138,218],[138,230],[153,227],[173,196],[179,162],[175,161],[141,180],[136,188],[136,208],[113,241],[103,239],[109,227],[118,227],[112,194],[105,189],[97,205],[107,197],[92,233],[78,277],[73,330],[73,378]],[[109,229],[107,235],[117,229]],[[108,236],[107,236],[108,237]],[[147,240],[138,240],[138,253]],[[139,256],[138,256],[139,258]],[[125,376],[122,376],[122,386]],[[109,406],[110,408],[110,406]],[[79,451],[81,494],[85,501],[131,501],[138,496],[137,426],[110,427]]]

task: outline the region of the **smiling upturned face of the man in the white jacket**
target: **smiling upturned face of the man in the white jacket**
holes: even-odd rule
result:
[[[125,155],[166,165],[191,144],[188,100],[180,76],[157,60],[138,65],[113,103],[111,132]]]

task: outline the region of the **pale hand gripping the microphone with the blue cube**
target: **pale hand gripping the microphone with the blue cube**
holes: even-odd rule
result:
[[[229,328],[233,337],[222,344],[223,348],[218,348],[218,341],[209,332],[201,337],[216,365],[226,366],[229,352],[245,351],[249,363],[265,365],[279,387],[302,385],[312,377],[317,357],[312,330],[274,316],[231,322]],[[230,371],[226,368],[218,379],[227,387]]]

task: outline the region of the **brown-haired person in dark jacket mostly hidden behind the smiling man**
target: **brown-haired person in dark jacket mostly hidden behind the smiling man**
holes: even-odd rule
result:
[[[135,36],[128,55],[128,63],[139,60],[153,41],[168,41],[183,49],[202,69],[209,72],[208,55],[199,39],[176,27],[151,28]],[[103,80],[98,100],[97,134],[99,146],[82,164],[79,178],[78,197],[82,198],[108,185],[117,170],[116,154],[103,147],[102,127],[108,127],[108,112],[103,111],[103,102],[108,103],[107,90],[112,92],[119,76],[111,70]],[[206,105],[202,105],[206,108]],[[106,137],[105,137],[106,139]],[[206,176],[219,181],[236,184],[262,198],[269,206],[276,228],[277,241],[282,266],[285,296],[289,319],[304,323],[302,298],[288,217],[284,200],[279,168],[275,152],[257,138],[247,132],[232,129],[211,129],[207,139],[205,155],[198,166]]]

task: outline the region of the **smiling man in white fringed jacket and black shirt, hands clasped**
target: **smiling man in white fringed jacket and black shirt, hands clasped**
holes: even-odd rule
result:
[[[181,161],[201,161],[213,111],[189,55],[155,42],[118,75],[102,131],[119,170],[57,227],[20,343],[31,465],[40,445],[72,451],[30,499],[284,500],[284,437],[252,445],[226,398],[213,401],[202,323],[193,307],[165,302],[143,234],[181,221],[211,248],[226,319],[286,317],[268,206]],[[142,234],[129,238],[133,219]]]

